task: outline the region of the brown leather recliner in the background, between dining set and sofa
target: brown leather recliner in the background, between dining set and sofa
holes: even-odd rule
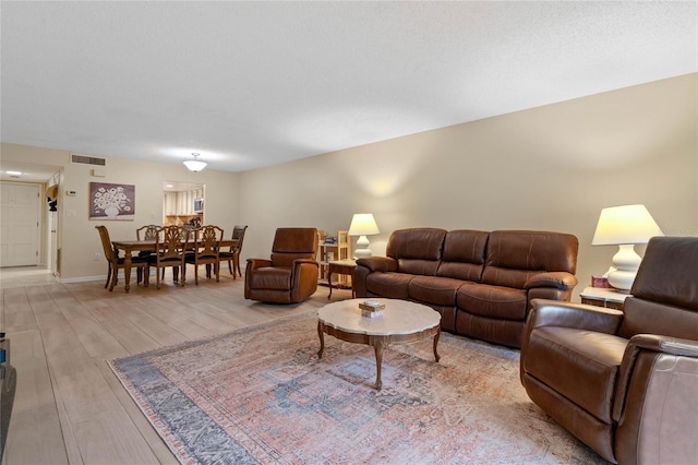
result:
[[[317,229],[278,228],[270,260],[248,259],[244,298],[297,303],[317,290]]]

